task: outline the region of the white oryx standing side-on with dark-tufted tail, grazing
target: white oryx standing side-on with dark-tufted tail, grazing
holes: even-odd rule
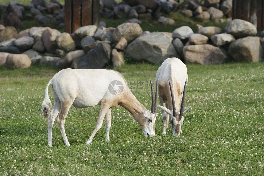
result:
[[[48,95],[49,85],[52,84],[54,106],[49,113],[51,101]],[[70,146],[65,130],[64,122],[69,108],[86,108],[101,105],[95,130],[92,132],[86,144],[90,145],[95,133],[102,127],[103,119],[106,119],[106,140],[109,141],[111,127],[111,108],[120,105],[127,109],[139,123],[145,137],[155,135],[155,120],[157,105],[152,102],[151,111],[147,110],[136,97],[126,89],[127,83],[124,77],[113,70],[82,70],[63,69],[49,81],[45,89],[45,99],[42,103],[44,119],[48,119],[48,146],[52,146],[52,126],[56,116],[64,143]],[[129,93],[127,92],[129,91]],[[153,94],[153,88],[152,88]],[[152,97],[153,100],[154,97]],[[154,100],[153,100],[154,101]]]

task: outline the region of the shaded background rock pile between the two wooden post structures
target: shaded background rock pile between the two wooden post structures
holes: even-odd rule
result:
[[[173,25],[175,21],[165,18],[162,14],[169,14],[181,9],[185,16],[195,18],[199,21],[214,19],[223,22],[223,16],[232,17],[232,0],[102,0],[100,14],[103,18],[133,18],[151,20],[156,19],[165,25]],[[186,10],[187,9],[187,10]],[[141,21],[137,21],[141,23]],[[130,21],[131,22],[131,21]]]

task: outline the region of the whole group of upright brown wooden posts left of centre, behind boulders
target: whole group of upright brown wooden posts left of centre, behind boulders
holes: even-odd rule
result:
[[[64,30],[74,33],[86,25],[99,26],[100,0],[65,0]]]

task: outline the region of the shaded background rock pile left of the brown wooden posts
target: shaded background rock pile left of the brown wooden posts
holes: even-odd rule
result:
[[[40,24],[53,23],[58,29],[64,28],[64,6],[57,0],[32,0],[23,5],[15,1],[0,4],[2,23],[14,26],[16,29],[25,29],[23,20],[37,20]]]

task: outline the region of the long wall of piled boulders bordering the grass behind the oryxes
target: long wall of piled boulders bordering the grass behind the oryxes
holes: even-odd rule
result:
[[[194,33],[182,26],[172,33],[150,33],[143,32],[138,23],[123,23],[116,28],[83,26],[72,34],[49,27],[32,27],[17,34],[14,27],[0,25],[0,65],[25,68],[30,65],[29,58],[33,63],[59,68],[91,69],[121,66],[125,54],[134,61],[154,64],[168,57],[222,64],[228,60],[259,62],[264,56],[264,38],[256,36],[256,27],[250,22],[235,19],[225,33],[214,26],[197,25],[197,29]],[[18,60],[21,66],[15,64]]]

